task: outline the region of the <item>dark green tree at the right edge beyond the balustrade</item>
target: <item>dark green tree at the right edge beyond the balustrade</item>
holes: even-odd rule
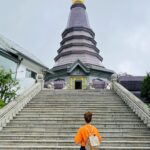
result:
[[[150,101],[150,74],[147,74],[142,83],[141,96]]]

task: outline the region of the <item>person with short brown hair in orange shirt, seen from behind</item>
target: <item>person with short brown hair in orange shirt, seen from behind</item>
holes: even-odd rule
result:
[[[102,142],[102,137],[99,134],[97,128],[95,126],[91,125],[92,113],[86,112],[84,114],[84,119],[85,119],[86,124],[78,129],[78,132],[74,138],[75,143],[81,145],[80,150],[86,150],[85,146],[86,146],[86,142],[89,137],[89,132],[92,135],[96,135],[98,137],[99,141]]]

